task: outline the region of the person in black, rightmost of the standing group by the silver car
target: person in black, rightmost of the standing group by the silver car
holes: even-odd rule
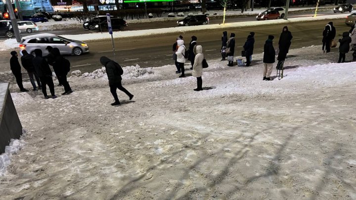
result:
[[[51,53],[54,56],[53,70],[57,70],[58,81],[60,81],[64,87],[64,93],[62,93],[62,95],[70,94],[73,92],[67,80],[70,62],[60,54],[59,49],[56,47],[52,49]]]

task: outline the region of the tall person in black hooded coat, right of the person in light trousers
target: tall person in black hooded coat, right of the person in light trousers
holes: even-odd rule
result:
[[[292,33],[288,31],[288,27],[287,26],[283,27],[282,33],[278,41],[279,53],[277,57],[278,60],[277,67],[280,66],[279,65],[280,62],[283,62],[286,59],[287,53],[289,51],[289,47],[292,44],[291,42],[292,38],[293,38]]]

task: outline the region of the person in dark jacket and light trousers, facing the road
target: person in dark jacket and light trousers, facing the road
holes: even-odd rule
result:
[[[272,73],[273,63],[275,62],[275,50],[273,47],[274,36],[268,36],[264,46],[264,78],[263,80],[271,80],[269,77]]]

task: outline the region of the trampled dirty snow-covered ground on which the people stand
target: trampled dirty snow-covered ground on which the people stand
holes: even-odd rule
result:
[[[119,92],[119,107],[101,69],[70,78],[74,92],[57,99],[13,83],[26,145],[1,198],[355,200],[356,68],[320,49],[290,50],[273,81],[262,54],[252,67],[208,60],[200,92],[173,65],[126,67],[135,96]]]

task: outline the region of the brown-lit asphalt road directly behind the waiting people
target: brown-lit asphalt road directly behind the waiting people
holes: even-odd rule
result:
[[[322,39],[322,30],[329,20],[293,23],[288,25],[292,32],[293,40],[291,48],[301,48],[303,46],[319,45]],[[337,30],[336,39],[340,38],[342,32],[349,31],[350,27],[345,25],[345,20],[333,20]],[[263,52],[263,45],[268,35],[274,35],[274,45],[278,42],[283,25],[249,27],[246,29],[224,29],[224,30],[204,30],[199,32],[185,32],[177,34],[166,34],[155,37],[138,37],[131,39],[115,39],[116,61],[122,66],[138,64],[141,67],[159,67],[174,64],[172,60],[172,45],[179,35],[182,35],[185,44],[188,44],[190,37],[195,35],[198,44],[203,46],[204,55],[207,60],[221,57],[221,36],[223,31],[235,33],[235,54],[238,55],[242,46],[251,31],[255,32],[254,53]],[[111,40],[97,40],[88,43],[90,53],[82,56],[68,56],[73,70],[92,72],[101,67],[99,58],[108,56],[113,58]],[[0,72],[9,70],[10,51],[0,52]],[[318,52],[315,52],[317,54]],[[322,53],[320,49],[320,53]],[[187,65],[187,63],[186,63]],[[174,70],[174,69],[173,69]]]

